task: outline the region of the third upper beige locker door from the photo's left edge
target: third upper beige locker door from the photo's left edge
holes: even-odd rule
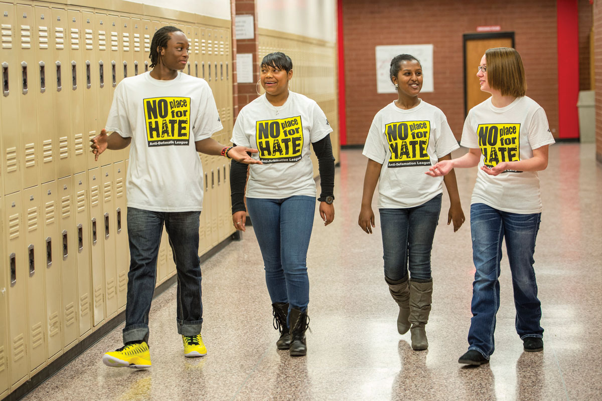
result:
[[[37,65],[32,66],[30,72],[31,91],[37,96],[37,115],[44,118],[37,118],[37,131],[39,133],[39,141],[42,158],[40,159],[40,181],[50,182],[57,177],[57,157],[58,157],[58,141],[54,131],[54,105],[52,100],[54,95],[53,78],[54,61],[52,61],[52,18],[50,8],[34,7],[34,31],[36,31],[36,61]],[[34,72],[34,68],[37,72]],[[33,84],[34,76],[36,76],[37,84]]]

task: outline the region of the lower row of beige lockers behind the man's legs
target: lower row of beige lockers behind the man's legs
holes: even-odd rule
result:
[[[230,165],[213,159],[203,177],[199,255],[234,233]],[[125,308],[128,162],[0,198],[0,397]],[[164,230],[157,285],[174,273]]]

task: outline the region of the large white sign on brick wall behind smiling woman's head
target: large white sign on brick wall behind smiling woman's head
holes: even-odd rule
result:
[[[420,61],[423,74],[421,92],[433,92],[433,45],[404,44],[376,46],[376,93],[397,93],[389,77],[389,68],[393,57],[399,54],[410,54]]]

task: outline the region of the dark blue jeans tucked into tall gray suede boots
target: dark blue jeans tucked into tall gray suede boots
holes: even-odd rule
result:
[[[385,277],[399,281],[408,269],[412,281],[432,280],[430,251],[441,212],[441,197],[403,209],[379,209]]]

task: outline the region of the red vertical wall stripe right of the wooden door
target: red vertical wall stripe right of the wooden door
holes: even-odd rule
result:
[[[558,137],[579,138],[579,11],[577,0],[557,0]],[[544,68],[544,66],[540,66]]]

